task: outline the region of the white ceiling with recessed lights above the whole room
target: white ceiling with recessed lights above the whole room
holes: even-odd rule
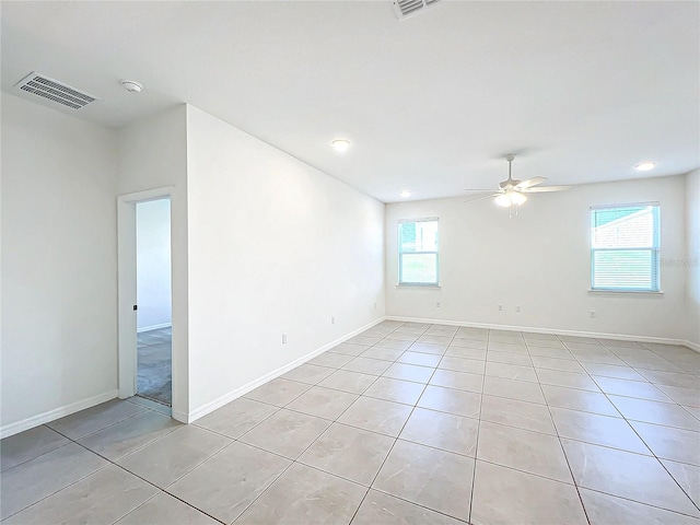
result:
[[[385,202],[505,178],[700,165],[699,2],[2,2],[2,90],[35,70],[109,127],[192,104]],[[121,79],[138,80],[140,95]],[[331,139],[351,150],[339,155]]]

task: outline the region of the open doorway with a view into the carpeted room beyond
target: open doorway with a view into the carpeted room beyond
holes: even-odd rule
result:
[[[171,200],[136,203],[137,395],[173,402]]]

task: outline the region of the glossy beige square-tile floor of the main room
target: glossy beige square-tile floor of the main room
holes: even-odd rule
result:
[[[165,413],[164,413],[165,412]],[[190,425],[3,440],[3,523],[696,524],[700,354],[384,322]]]

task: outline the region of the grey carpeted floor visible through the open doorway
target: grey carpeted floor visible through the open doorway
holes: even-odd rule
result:
[[[172,393],[172,329],[138,335],[138,395],[168,407]]]

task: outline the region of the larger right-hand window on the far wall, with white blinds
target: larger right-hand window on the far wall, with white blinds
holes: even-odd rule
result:
[[[591,208],[591,289],[658,292],[658,203]]]

